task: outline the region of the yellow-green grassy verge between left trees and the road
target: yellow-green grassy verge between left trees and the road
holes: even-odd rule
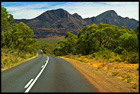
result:
[[[33,54],[23,52],[18,55],[16,50],[8,50],[8,49],[1,48],[1,71],[19,65],[37,56],[38,53],[33,55]]]

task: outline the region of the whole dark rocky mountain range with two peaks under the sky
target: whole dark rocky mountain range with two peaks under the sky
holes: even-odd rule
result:
[[[93,23],[106,23],[119,28],[127,26],[136,29],[139,21],[119,16],[114,10],[108,10],[96,17],[82,18],[79,14],[70,14],[64,9],[48,10],[33,19],[14,19],[10,23],[24,22],[34,31],[34,38],[65,36],[67,32],[77,34],[81,28]]]

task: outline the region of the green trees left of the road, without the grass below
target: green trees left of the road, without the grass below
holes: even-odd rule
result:
[[[13,16],[1,7],[1,48],[15,49],[20,52],[36,53],[36,39],[33,39],[34,32],[23,22],[11,24]]]

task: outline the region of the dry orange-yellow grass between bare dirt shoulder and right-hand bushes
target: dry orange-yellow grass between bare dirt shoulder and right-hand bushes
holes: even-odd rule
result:
[[[69,58],[81,61],[86,65],[95,67],[96,69],[105,71],[106,74],[120,79],[125,83],[129,83],[130,87],[139,90],[139,71],[137,67],[139,64],[129,64],[127,62],[111,62],[109,60],[103,60],[101,58],[88,59],[86,56],[69,56]],[[67,58],[64,58],[68,60]],[[68,60],[70,61],[70,60]],[[72,62],[72,61],[70,61]],[[76,62],[76,61],[73,61]],[[81,63],[81,64],[82,64]],[[74,63],[73,63],[74,64]],[[76,64],[76,63],[75,63]],[[80,65],[79,65],[80,66]]]

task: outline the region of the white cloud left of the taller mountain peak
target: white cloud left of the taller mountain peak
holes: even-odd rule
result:
[[[40,9],[42,7],[48,7],[47,3],[22,5],[22,6],[9,6],[6,7],[9,13],[12,13],[15,19],[32,19],[45,12],[46,9]]]

